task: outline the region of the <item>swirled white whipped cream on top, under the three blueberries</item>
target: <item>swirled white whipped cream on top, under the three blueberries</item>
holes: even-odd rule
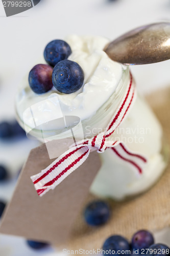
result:
[[[62,94],[55,88],[44,94],[35,94],[29,87],[28,79],[22,82],[22,90],[17,97],[17,114],[23,119],[25,125],[34,128],[29,108],[39,103],[34,108],[36,120],[45,122],[54,119],[55,96],[57,96],[62,114],[74,115],[81,120],[93,116],[96,111],[109,99],[122,77],[124,66],[111,60],[103,51],[109,40],[98,36],[72,35],[66,38],[71,47],[72,54],[68,59],[76,61],[82,67],[85,75],[83,86],[71,94]],[[41,60],[44,63],[44,60]],[[57,117],[56,117],[57,118]],[[64,127],[49,127],[48,129],[62,129]]]

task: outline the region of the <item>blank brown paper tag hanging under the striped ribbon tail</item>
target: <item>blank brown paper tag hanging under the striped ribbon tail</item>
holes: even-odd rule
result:
[[[54,147],[58,148],[60,155],[68,144],[65,140],[63,143],[58,140]],[[88,159],[54,190],[39,197],[30,176],[39,173],[53,161],[48,156],[45,144],[31,151],[2,220],[1,233],[55,245],[64,243],[69,238],[72,225],[98,173],[101,161],[98,153],[90,153]]]

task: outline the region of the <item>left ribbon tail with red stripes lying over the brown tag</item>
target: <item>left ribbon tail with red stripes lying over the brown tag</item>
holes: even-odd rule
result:
[[[90,154],[87,145],[79,145],[66,151],[52,164],[31,177],[38,195],[41,197],[50,189],[54,189],[69,174],[74,172]]]

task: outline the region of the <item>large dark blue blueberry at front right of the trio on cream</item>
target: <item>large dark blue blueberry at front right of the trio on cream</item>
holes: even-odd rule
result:
[[[61,60],[53,70],[54,87],[61,93],[78,91],[84,81],[84,72],[80,65],[71,60]]]

